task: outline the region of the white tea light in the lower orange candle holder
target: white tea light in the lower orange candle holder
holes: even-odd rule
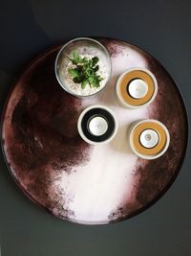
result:
[[[148,128],[141,132],[139,140],[143,147],[151,149],[158,145],[159,134],[156,130]]]

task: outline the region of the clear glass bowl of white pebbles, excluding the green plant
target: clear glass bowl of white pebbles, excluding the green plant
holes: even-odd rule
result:
[[[81,57],[99,58],[97,75],[103,78],[99,87],[90,86],[88,83],[85,89],[82,89],[80,83],[73,82],[68,70],[69,65],[72,65],[69,58],[72,58],[74,52]],[[112,63],[108,51],[100,42],[88,37],[79,37],[67,42],[60,49],[55,59],[54,70],[57,81],[65,91],[76,97],[88,97],[96,95],[106,86],[111,77]]]

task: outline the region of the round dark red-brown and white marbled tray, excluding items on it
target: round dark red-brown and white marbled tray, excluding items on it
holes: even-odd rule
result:
[[[187,145],[187,117],[179,89],[159,62],[126,42],[101,39],[113,63],[110,83],[96,97],[67,94],[54,76],[60,47],[36,58],[11,89],[2,122],[2,147],[11,175],[38,205],[64,220],[100,224],[128,219],[159,199],[180,171]],[[159,83],[152,105],[128,110],[117,103],[117,77],[131,67],[148,68]],[[90,146],[76,122],[89,105],[110,106],[119,129],[109,144]],[[170,132],[168,151],[142,160],[127,146],[126,131],[142,118]]]

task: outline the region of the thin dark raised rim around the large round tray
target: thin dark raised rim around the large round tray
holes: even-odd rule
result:
[[[73,219],[69,219],[69,218],[63,218],[63,217],[59,217],[55,214],[53,214],[53,211],[51,211],[50,209],[48,209],[47,207],[44,207],[42,206],[36,199],[32,198],[32,196],[27,193],[27,191],[24,189],[24,187],[19,183],[19,181],[17,180],[17,178],[13,175],[12,171],[11,171],[11,167],[9,165],[9,162],[8,162],[8,159],[6,157],[6,153],[4,151],[4,139],[3,139],[3,126],[4,126],[4,117],[5,117],[5,114],[6,114],[6,110],[7,110],[7,106],[9,104],[9,101],[10,101],[10,97],[11,97],[11,93],[14,89],[14,87],[16,86],[16,84],[18,83],[18,81],[25,75],[25,73],[29,70],[29,68],[32,66],[32,64],[40,59],[40,58],[43,58],[45,55],[48,55],[48,54],[51,54],[51,52],[54,52],[56,50],[59,51],[59,49],[62,47],[62,45],[64,43],[66,43],[67,41],[69,40],[63,40],[62,41],[62,44],[60,43],[56,43],[55,45],[51,46],[51,47],[48,47],[45,51],[43,51],[41,54],[38,54],[36,55],[34,58],[32,58],[31,61],[29,61],[26,66],[21,69],[21,71],[19,72],[19,74],[17,75],[16,79],[12,82],[11,86],[10,86],[10,90],[9,90],[9,93],[6,97],[6,100],[4,102],[4,105],[3,105],[3,109],[2,109],[2,113],[1,113],[1,118],[0,118],[0,147],[1,147],[1,151],[3,153],[3,158],[6,162],[6,166],[9,170],[9,172],[11,173],[11,176],[13,177],[13,180],[14,182],[16,183],[16,185],[20,188],[20,190],[22,191],[22,193],[24,193],[24,195],[27,196],[27,198],[29,198],[30,200],[32,200],[32,202],[34,202],[35,204],[37,204],[38,206],[40,206],[40,208],[43,208],[44,210],[46,210],[48,213],[50,213],[54,218],[58,218],[58,219],[61,219],[62,221],[70,221],[70,222],[74,222],[76,224],[86,224],[86,225],[105,225],[105,224],[111,224],[111,223],[116,223],[116,222],[120,222],[120,221],[125,221],[125,220],[128,220],[128,219],[131,219],[133,217],[136,217],[138,216],[138,214],[144,212],[146,209],[150,208],[151,206],[153,206],[157,201],[159,201],[160,198],[162,198],[164,196],[164,194],[169,190],[169,188],[172,186],[172,184],[174,183],[174,181],[176,180],[177,176],[180,174],[180,170],[182,168],[182,165],[183,165],[183,162],[184,162],[184,159],[187,155],[187,150],[188,150],[188,141],[189,141],[189,122],[188,122],[188,111],[187,111],[187,108],[186,108],[186,105],[185,105],[185,100],[184,98],[182,97],[182,93],[180,92],[180,88],[178,86],[178,83],[175,81],[174,77],[171,76],[169,74],[169,72],[165,69],[165,67],[163,66],[163,64],[161,64],[159,62],[159,60],[157,58],[155,58],[153,55],[149,54],[147,51],[139,48],[137,45],[135,44],[132,44],[131,42],[129,41],[126,41],[126,40],[123,40],[123,39],[118,39],[118,38],[114,38],[114,37],[104,37],[104,36],[91,36],[90,38],[94,38],[96,40],[99,40],[101,41],[104,41],[104,40],[111,40],[111,41],[118,41],[118,42],[123,42],[123,43],[126,43],[126,44],[129,44],[130,46],[133,46],[134,48],[138,49],[138,51],[141,51],[143,52],[144,54],[150,56],[151,58],[153,58],[156,63],[159,65],[159,67],[162,69],[162,71],[164,71],[167,76],[169,77],[169,79],[174,83],[175,87],[176,87],[176,90],[178,91],[178,95],[179,95],[179,98],[180,98],[180,104],[182,105],[182,110],[184,112],[184,126],[185,126],[185,129],[186,129],[186,140],[184,142],[184,149],[183,149],[183,152],[182,152],[182,157],[180,159],[180,163],[179,163],[179,166],[177,167],[177,170],[175,172],[175,174],[171,177],[170,181],[168,182],[168,184],[165,186],[165,188],[163,190],[160,191],[159,195],[157,197],[155,197],[153,200],[147,202],[144,206],[142,206],[140,209],[136,210],[135,212],[133,212],[132,214],[128,214],[128,216],[123,216],[123,217],[119,217],[117,218],[117,220],[113,220],[113,221],[110,221],[110,222],[106,222],[106,221],[103,221],[103,222],[90,222],[90,221],[75,221]],[[75,98],[75,96],[73,96]]]

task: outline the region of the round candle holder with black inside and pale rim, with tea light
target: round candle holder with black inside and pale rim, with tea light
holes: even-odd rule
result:
[[[92,145],[110,142],[117,134],[117,127],[114,111],[105,105],[91,105],[85,108],[77,122],[79,135]]]

